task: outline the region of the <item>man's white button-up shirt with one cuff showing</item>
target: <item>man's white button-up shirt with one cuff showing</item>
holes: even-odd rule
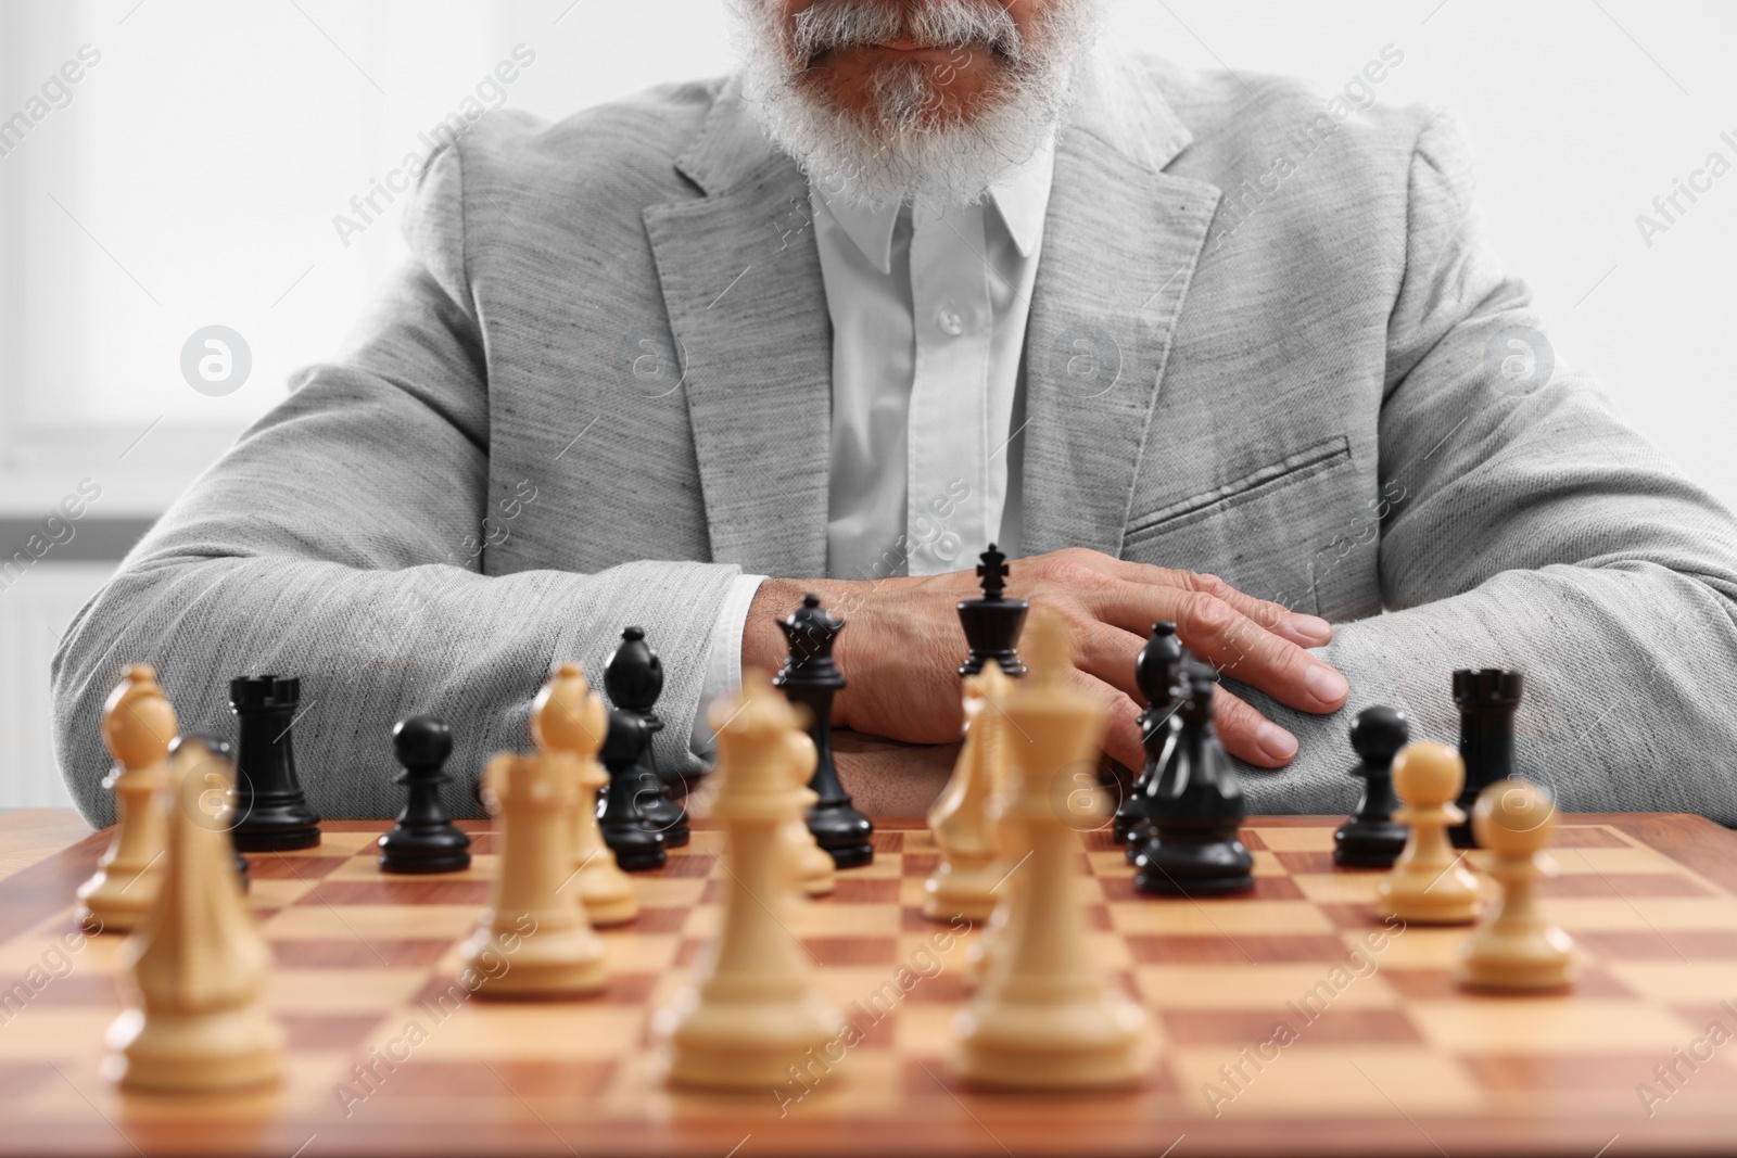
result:
[[[809,184],[832,316],[827,576],[879,580],[1020,556],[1020,354],[1044,241],[1054,139],[980,205],[858,207]],[[994,210],[994,212],[992,212]],[[763,575],[738,576],[705,656],[705,707],[742,682]]]

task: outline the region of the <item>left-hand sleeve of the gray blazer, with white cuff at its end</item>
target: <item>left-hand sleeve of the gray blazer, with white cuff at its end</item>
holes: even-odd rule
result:
[[[54,658],[63,774],[109,823],[101,710],[129,663],[153,663],[182,733],[234,736],[233,675],[299,675],[295,757],[327,818],[393,816],[393,724],[453,726],[448,804],[476,814],[488,753],[528,743],[530,700],[558,660],[601,661],[624,623],[669,655],[705,655],[736,566],[629,563],[598,575],[483,573],[488,373],[466,278],[462,165],[436,156],[405,231],[412,260],[344,358],[292,394],[179,498],[80,611]],[[669,670],[660,712],[695,715],[703,665]],[[660,755],[691,766],[686,727]],[[681,734],[674,734],[681,733]]]

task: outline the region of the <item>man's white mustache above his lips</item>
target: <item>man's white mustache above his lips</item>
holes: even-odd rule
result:
[[[902,36],[933,49],[983,42],[1011,61],[1025,56],[1018,24],[995,0],[931,0],[908,16],[902,5],[877,0],[816,0],[796,16],[790,50],[808,64],[832,49]]]

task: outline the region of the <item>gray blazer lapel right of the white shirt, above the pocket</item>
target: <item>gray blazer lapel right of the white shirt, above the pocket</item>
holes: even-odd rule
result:
[[[1136,82],[1127,82],[1136,83]],[[1164,363],[1219,189],[1160,172],[1188,130],[1150,80],[1098,87],[1056,141],[1025,335],[1025,550],[1122,550]],[[1105,125],[1133,125],[1126,149]],[[1152,144],[1159,142],[1159,144]],[[1136,161],[1131,153],[1148,156]]]

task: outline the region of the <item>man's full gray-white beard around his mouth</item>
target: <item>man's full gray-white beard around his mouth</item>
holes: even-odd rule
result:
[[[893,61],[875,69],[872,108],[839,108],[806,63],[815,52],[898,35],[898,7],[818,0],[797,17],[796,43],[768,0],[733,0],[742,31],[743,97],[761,127],[827,200],[855,205],[924,200],[974,205],[1037,153],[1067,118],[1075,80],[1098,36],[1098,0],[1053,0],[1021,38],[995,0],[931,0],[914,19],[926,43],[995,54],[999,80],[973,104],[943,101],[947,64]]]

